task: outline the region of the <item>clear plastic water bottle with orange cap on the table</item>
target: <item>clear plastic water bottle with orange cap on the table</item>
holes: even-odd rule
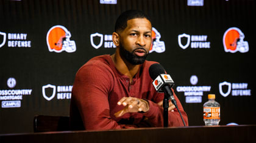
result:
[[[204,104],[204,122],[206,126],[219,125],[221,121],[221,106],[215,101],[215,95],[208,95]]]

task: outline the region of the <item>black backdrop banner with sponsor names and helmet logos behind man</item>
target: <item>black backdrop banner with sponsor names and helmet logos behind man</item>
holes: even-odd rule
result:
[[[221,104],[220,125],[255,124],[255,5],[254,0],[1,0],[0,133],[33,131],[35,115],[69,116],[77,70],[94,56],[115,52],[115,21],[129,9],[151,16],[148,60],[160,62],[174,79],[190,125],[204,125],[209,93]]]

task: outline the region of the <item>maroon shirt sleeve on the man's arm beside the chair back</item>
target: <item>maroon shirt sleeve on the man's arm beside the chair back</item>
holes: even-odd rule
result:
[[[86,130],[109,130],[135,128],[136,125],[118,124],[110,117],[108,93],[112,89],[113,78],[99,67],[84,67],[77,72],[73,95],[74,104]]]

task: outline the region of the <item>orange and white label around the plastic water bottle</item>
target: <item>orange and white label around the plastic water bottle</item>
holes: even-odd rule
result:
[[[204,119],[221,119],[221,108],[204,107]]]

